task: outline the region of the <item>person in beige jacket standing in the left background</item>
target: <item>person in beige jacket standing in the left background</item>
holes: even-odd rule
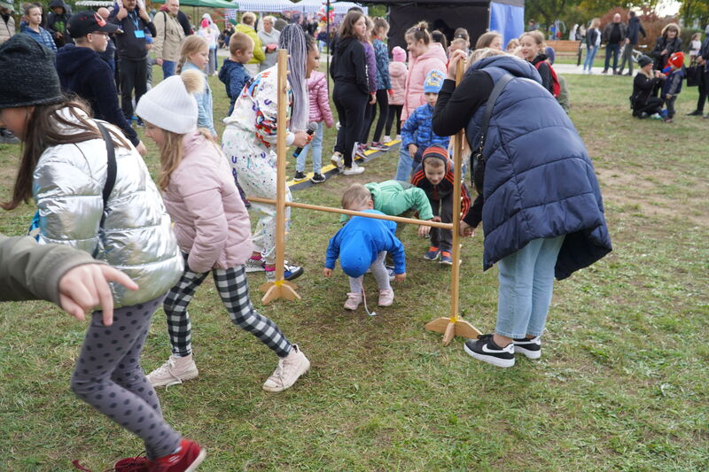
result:
[[[152,19],[157,33],[152,43],[152,50],[155,52],[158,66],[162,67],[163,79],[175,74],[175,66],[180,60],[180,49],[184,40],[183,27],[177,21],[180,0],[168,0],[165,4],[168,11],[160,9]]]

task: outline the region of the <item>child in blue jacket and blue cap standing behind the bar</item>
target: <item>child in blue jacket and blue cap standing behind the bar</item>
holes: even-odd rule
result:
[[[414,110],[401,128],[399,165],[396,167],[396,177],[394,177],[397,181],[409,182],[411,171],[421,163],[423,152],[432,144],[448,148],[450,137],[436,135],[431,127],[433,109],[436,107],[438,93],[445,78],[446,74],[435,69],[426,75],[424,95],[427,103]]]

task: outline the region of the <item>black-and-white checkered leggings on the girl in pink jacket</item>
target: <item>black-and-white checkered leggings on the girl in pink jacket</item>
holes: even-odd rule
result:
[[[187,306],[190,305],[195,290],[209,274],[208,272],[201,274],[192,272],[186,266],[185,264],[182,278],[169,291],[168,297],[163,303],[165,313],[168,315],[168,335],[172,352],[181,357],[189,356],[192,352],[192,327]],[[287,356],[291,352],[290,341],[278,329],[275,322],[253,309],[244,266],[213,269],[212,276],[216,290],[222,298],[222,303],[229,312],[231,322],[261,339],[261,343],[269,346],[273,352],[277,353],[278,357]]]

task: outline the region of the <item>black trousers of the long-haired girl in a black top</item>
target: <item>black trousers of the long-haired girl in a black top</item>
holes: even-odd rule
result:
[[[335,151],[342,153],[346,167],[352,166],[354,143],[359,142],[364,124],[364,109],[369,94],[362,93],[354,83],[335,82],[332,101],[338,111],[339,130]]]

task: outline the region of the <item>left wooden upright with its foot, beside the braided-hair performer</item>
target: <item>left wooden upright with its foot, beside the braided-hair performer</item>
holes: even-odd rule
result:
[[[288,53],[278,50],[278,76],[277,76],[277,135],[276,135],[276,280],[263,283],[259,290],[266,292],[261,303],[264,305],[277,298],[294,300],[300,298],[295,292],[296,286],[292,282],[284,281],[285,265],[285,135],[288,117],[286,109],[288,96],[286,89]],[[273,200],[271,200],[273,201]]]

